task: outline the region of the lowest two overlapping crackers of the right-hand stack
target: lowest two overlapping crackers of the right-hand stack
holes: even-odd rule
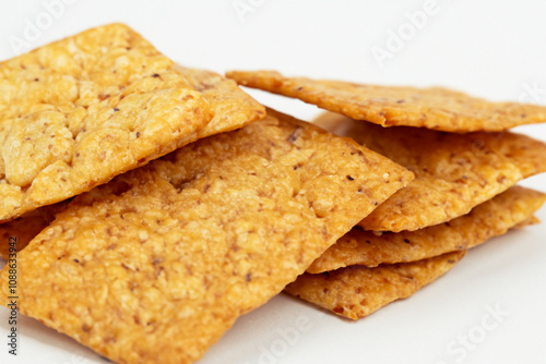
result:
[[[404,299],[453,267],[471,247],[533,221],[546,194],[514,186],[463,217],[417,231],[353,229],[285,292],[358,319]]]

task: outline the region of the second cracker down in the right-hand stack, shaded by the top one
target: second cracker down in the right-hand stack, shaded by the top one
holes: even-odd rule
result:
[[[389,128],[327,113],[318,125],[406,167],[415,180],[359,226],[418,230],[467,214],[523,178],[546,171],[546,144],[510,132],[453,134]]]

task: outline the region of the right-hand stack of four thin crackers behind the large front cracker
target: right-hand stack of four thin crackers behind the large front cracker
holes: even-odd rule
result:
[[[546,144],[506,131],[546,121],[545,107],[274,71],[227,76],[339,112],[314,123],[415,173],[285,289],[341,316],[358,319],[412,295],[466,250],[535,222],[533,214],[546,201],[543,193],[514,186],[546,171]]]

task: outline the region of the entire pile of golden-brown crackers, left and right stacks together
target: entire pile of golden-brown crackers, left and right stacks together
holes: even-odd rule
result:
[[[503,132],[544,108],[229,77],[396,126],[265,109],[121,24],[4,61],[0,304],[117,363],[193,363],[283,290],[365,316],[544,203],[513,185],[546,145]]]

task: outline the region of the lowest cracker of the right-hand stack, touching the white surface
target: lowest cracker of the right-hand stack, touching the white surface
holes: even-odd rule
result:
[[[288,284],[285,292],[336,315],[358,319],[395,300],[411,296],[450,270],[465,254],[466,251],[454,252],[376,268],[351,266],[328,275],[306,272]]]

